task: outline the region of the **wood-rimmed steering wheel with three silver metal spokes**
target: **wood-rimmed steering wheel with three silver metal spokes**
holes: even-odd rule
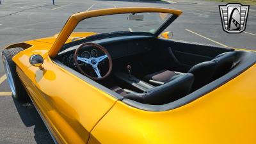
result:
[[[93,46],[93,47],[97,47],[98,49],[100,49],[101,51],[104,52],[104,54],[102,56],[99,56],[97,58],[81,58],[78,56],[78,52],[83,48],[83,47],[87,47],[87,46]],[[100,61],[103,61],[105,60],[106,58],[108,58],[108,62],[109,62],[109,68],[108,68],[108,72],[104,75],[104,76],[101,76],[100,74],[100,70],[98,68],[98,65],[100,63]],[[93,80],[101,80],[101,79],[105,79],[106,77],[109,76],[109,74],[111,73],[112,71],[112,59],[111,59],[111,56],[109,54],[108,51],[106,51],[106,49],[104,47],[102,47],[102,45],[99,45],[99,44],[95,44],[95,43],[92,43],[92,42],[87,42],[87,43],[84,43],[82,45],[80,45],[76,51],[75,51],[75,54],[74,54],[74,61],[76,63],[76,67],[78,68],[78,70],[84,75],[84,76],[87,76],[87,77],[90,77],[91,79]],[[93,70],[95,71],[95,73],[97,74],[97,77],[93,77],[93,76],[90,76],[88,74],[86,74],[86,72],[84,72],[84,70],[80,67],[78,61],[82,61],[86,64],[89,64],[92,66]]]

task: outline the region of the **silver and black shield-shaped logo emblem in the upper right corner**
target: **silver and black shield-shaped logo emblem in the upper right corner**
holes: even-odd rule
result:
[[[227,33],[241,33],[245,30],[250,6],[227,4],[219,7],[224,31]]]

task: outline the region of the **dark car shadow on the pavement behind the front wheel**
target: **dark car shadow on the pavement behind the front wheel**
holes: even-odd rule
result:
[[[17,100],[13,99],[13,102],[24,125],[26,125],[26,127],[31,127],[35,125],[34,138],[36,143],[54,143],[54,141],[51,138],[51,135],[49,134],[47,128],[44,125],[42,118],[36,111],[35,106],[31,102],[31,100],[23,100],[18,102]]]

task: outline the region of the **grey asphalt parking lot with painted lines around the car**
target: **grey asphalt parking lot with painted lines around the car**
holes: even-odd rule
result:
[[[106,0],[0,0],[0,51],[18,42],[59,33],[72,13],[101,8],[150,6],[182,10],[166,29],[173,39],[221,47],[256,49],[256,7],[250,6],[246,30],[228,34],[221,26],[218,5],[202,0],[160,2]],[[114,26],[115,27],[115,26]],[[189,49],[189,47],[188,47]],[[44,123],[29,101],[12,99],[0,56],[0,143],[53,143]]]

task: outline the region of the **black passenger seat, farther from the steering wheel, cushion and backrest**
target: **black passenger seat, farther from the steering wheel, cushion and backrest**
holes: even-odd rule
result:
[[[225,52],[219,54],[211,61],[205,61],[202,63],[198,63],[188,70],[188,73],[192,73],[195,76],[195,81],[193,83],[192,90],[195,91],[198,88],[201,88],[207,83],[218,79],[219,77],[227,74],[227,72],[232,67],[235,60],[236,52]],[[154,74],[148,74],[145,76],[145,79],[150,81],[150,79],[154,81],[160,82],[168,82],[172,79],[173,76],[176,76],[177,73],[170,70],[161,70]],[[153,81],[153,82],[154,82]],[[152,82],[152,81],[151,81]]]

